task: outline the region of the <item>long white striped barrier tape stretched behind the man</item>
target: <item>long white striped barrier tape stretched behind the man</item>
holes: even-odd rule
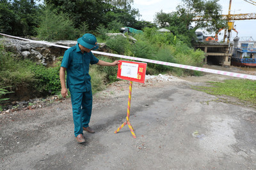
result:
[[[0,34],[3,36],[15,38],[15,39],[22,39],[25,41],[32,41],[32,42],[41,43],[41,44],[45,44],[45,45],[58,46],[61,48],[70,48],[70,46],[55,45],[53,43],[46,43],[45,41],[35,41],[35,40],[31,40],[31,39],[10,36],[7,34],[2,34],[2,33],[0,33]],[[127,56],[127,55],[118,55],[118,54],[114,54],[114,53],[97,52],[97,51],[92,51],[92,53],[97,53],[100,55],[108,55],[111,57],[118,57],[118,58],[123,58],[123,59],[138,60],[138,61],[142,61],[142,62],[150,62],[150,63],[154,63],[154,64],[161,64],[164,66],[180,67],[183,69],[191,69],[191,70],[195,70],[195,71],[202,71],[205,73],[221,74],[221,75],[225,75],[225,76],[233,76],[233,77],[237,77],[237,78],[246,78],[246,79],[250,79],[250,80],[256,80],[256,76],[253,76],[250,74],[233,73],[233,72],[228,72],[228,71],[220,71],[220,70],[216,70],[216,69],[207,69],[207,68],[203,68],[203,67],[188,66],[188,65],[184,65],[184,64],[175,64],[172,62],[163,62],[163,61],[159,61],[159,60],[142,59],[142,58],[138,58],[138,57],[131,57],[131,56]]]

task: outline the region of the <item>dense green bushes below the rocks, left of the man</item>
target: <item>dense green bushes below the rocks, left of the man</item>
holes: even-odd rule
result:
[[[56,67],[45,67],[31,60],[18,60],[12,53],[0,48],[0,87],[27,87],[44,96],[55,94],[60,86],[60,62]]]

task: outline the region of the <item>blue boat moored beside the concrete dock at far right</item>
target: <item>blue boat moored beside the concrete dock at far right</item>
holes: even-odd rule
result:
[[[250,48],[248,43],[242,43],[241,48],[234,48],[231,65],[256,67],[256,48]]]

